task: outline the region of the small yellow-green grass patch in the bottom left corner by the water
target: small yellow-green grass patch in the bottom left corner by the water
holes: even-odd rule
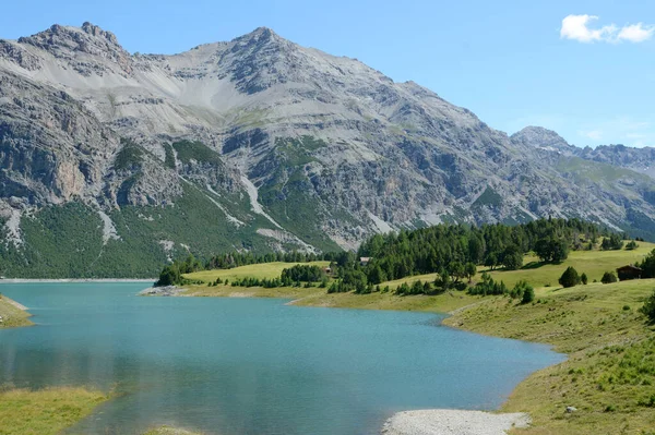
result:
[[[0,435],[59,434],[108,399],[84,388],[0,390]]]

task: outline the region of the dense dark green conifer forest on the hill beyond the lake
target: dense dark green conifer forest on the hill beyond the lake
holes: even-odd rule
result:
[[[357,256],[371,258],[361,269],[372,285],[431,273],[457,280],[471,275],[477,265],[519,269],[524,254],[531,251],[541,262],[560,263],[571,249],[590,249],[606,234],[595,223],[580,219],[538,219],[519,226],[479,228],[438,225],[376,234],[361,244]],[[352,266],[357,268],[357,263]]]

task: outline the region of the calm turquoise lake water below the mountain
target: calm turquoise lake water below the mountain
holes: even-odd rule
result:
[[[0,331],[0,384],[122,392],[70,433],[377,434],[396,411],[495,409],[547,347],[425,313],[143,298],[143,283],[1,285],[36,327]]]

